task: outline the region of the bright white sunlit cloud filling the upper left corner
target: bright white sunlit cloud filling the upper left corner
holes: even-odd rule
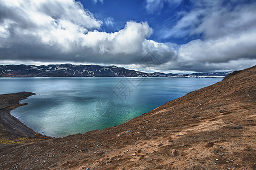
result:
[[[81,3],[69,0],[2,1],[0,10],[1,46],[30,36],[49,45],[65,42],[102,24]]]

